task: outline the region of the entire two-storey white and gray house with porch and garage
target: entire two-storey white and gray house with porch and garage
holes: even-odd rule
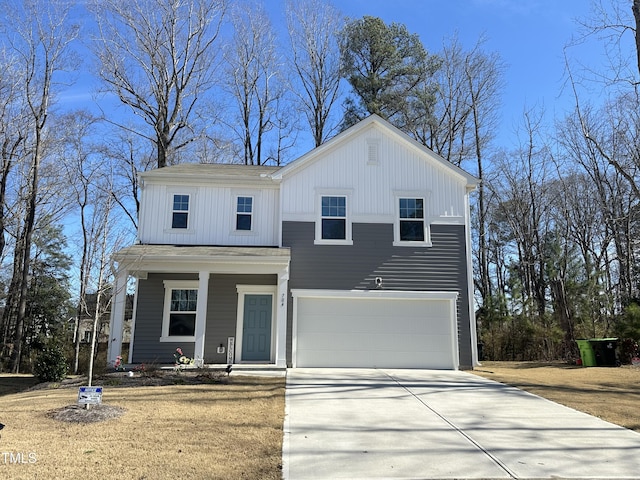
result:
[[[477,183],[375,115],[283,167],[142,173],[109,360],[134,276],[131,363],[472,368]]]

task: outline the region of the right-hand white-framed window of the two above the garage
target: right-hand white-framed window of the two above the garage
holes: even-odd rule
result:
[[[430,246],[431,238],[424,197],[396,197],[394,245]]]

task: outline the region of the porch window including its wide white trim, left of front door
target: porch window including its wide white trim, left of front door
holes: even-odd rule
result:
[[[197,280],[165,280],[161,342],[194,342]]]

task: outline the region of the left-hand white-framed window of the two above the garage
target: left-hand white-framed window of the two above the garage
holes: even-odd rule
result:
[[[349,195],[333,191],[317,195],[315,244],[353,245]]]

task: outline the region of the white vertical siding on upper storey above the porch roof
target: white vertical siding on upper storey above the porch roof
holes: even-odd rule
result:
[[[188,228],[171,228],[174,195],[189,195]],[[163,185],[148,183],[141,204],[139,241],[143,244],[238,245],[278,244],[277,186]],[[236,199],[253,198],[251,231],[236,230]]]

